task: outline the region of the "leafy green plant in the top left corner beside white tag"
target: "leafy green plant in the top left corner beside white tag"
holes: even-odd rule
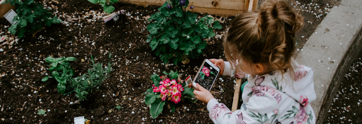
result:
[[[25,32],[33,34],[42,27],[61,22],[58,17],[52,17],[52,13],[48,12],[51,8],[43,7],[41,0],[7,0],[5,3],[15,5],[17,8],[17,16],[13,19],[17,23],[9,27],[9,32],[19,38],[24,37]]]

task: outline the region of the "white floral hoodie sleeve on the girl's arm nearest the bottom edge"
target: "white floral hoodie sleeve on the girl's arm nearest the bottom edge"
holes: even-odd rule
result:
[[[215,124],[262,124],[275,121],[278,103],[269,93],[258,93],[243,103],[240,110],[231,112],[223,103],[211,99],[207,103],[210,119]]]

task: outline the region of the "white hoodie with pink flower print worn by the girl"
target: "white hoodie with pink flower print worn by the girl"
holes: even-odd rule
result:
[[[316,99],[313,71],[296,62],[295,65],[294,78],[286,72],[282,80],[279,71],[248,75],[240,110],[231,112],[223,103],[211,99],[207,103],[210,119],[215,124],[315,124],[309,104]],[[243,72],[235,74],[229,62],[225,62],[223,75],[246,77]]]

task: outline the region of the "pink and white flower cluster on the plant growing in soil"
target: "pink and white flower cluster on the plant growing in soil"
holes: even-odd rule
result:
[[[158,87],[153,84],[153,92],[160,92],[160,98],[165,101],[166,99],[171,100],[174,103],[178,103],[181,101],[181,91],[184,91],[184,88],[181,84],[177,84],[177,82],[182,82],[182,80],[178,79],[177,81],[172,79],[170,80],[167,76],[161,76],[161,81]]]

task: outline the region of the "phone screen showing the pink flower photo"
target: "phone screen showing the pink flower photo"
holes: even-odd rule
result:
[[[216,79],[218,71],[212,67],[209,63],[205,62],[201,67],[194,83],[199,83],[203,88],[210,91],[212,84]]]

